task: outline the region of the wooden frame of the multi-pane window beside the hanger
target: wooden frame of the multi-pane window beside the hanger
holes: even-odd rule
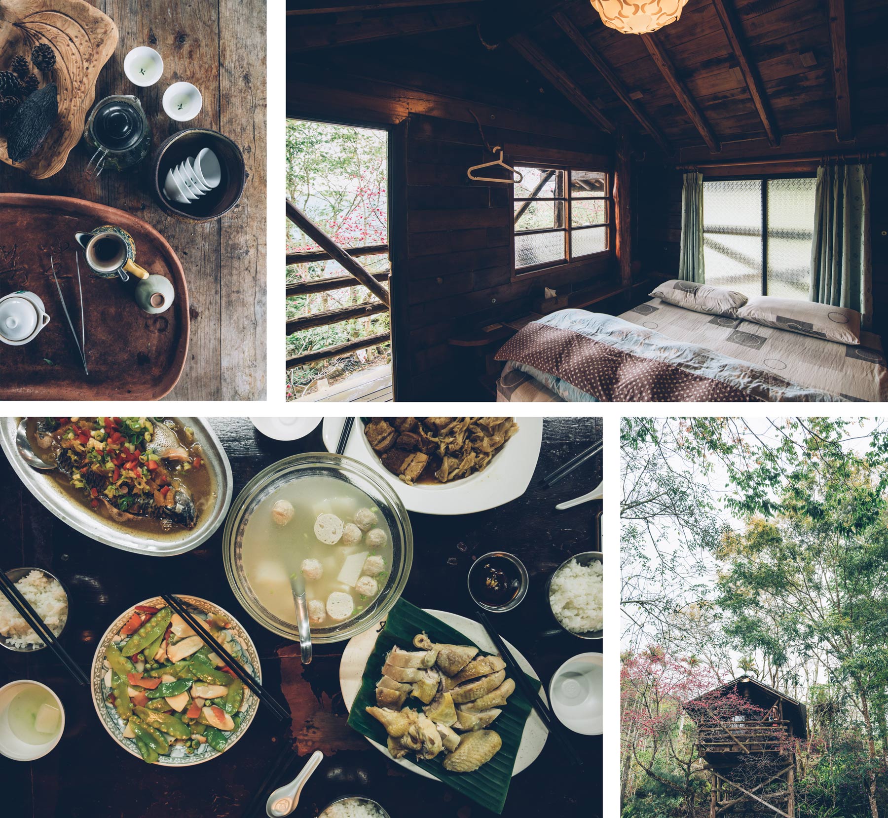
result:
[[[554,271],[561,270],[570,270],[575,267],[582,266],[583,264],[588,264],[592,259],[601,258],[603,256],[607,256],[608,253],[612,253],[614,250],[614,171],[607,167],[591,167],[590,165],[582,164],[562,164],[562,163],[553,163],[553,162],[526,162],[526,161],[516,161],[516,167],[521,168],[539,168],[543,171],[560,171],[564,173],[565,179],[565,194],[561,196],[551,196],[546,198],[535,198],[528,199],[524,196],[516,196],[515,188],[512,187],[512,195],[511,195],[511,213],[514,215],[515,212],[515,203],[519,202],[563,202],[564,203],[564,227],[543,227],[537,230],[516,230],[515,225],[512,224],[511,229],[511,241],[510,241],[510,250],[511,250],[511,280],[516,281],[519,279],[525,279],[528,276],[542,275],[545,273],[550,273]],[[607,218],[603,224],[599,225],[586,225],[582,227],[574,227],[571,226],[572,218],[572,208],[571,203],[573,201],[573,197],[570,195],[570,174],[571,172],[589,172],[589,173],[603,173],[605,175],[605,195],[603,196],[581,196],[578,197],[579,201],[597,201],[604,202],[607,206]],[[604,250],[599,250],[594,253],[584,253],[582,256],[575,256],[571,252],[571,242],[570,237],[577,230],[587,230],[594,227],[604,227],[607,231],[607,247]],[[529,265],[525,267],[519,267],[516,264],[515,258],[515,238],[516,236],[524,235],[524,234],[534,234],[534,233],[563,233],[564,234],[564,258],[558,259],[557,261],[544,261],[541,264]]]

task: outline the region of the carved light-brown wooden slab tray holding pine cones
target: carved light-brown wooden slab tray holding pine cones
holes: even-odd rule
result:
[[[59,86],[59,119],[36,155],[15,165],[35,179],[58,173],[83,136],[99,71],[117,46],[117,27],[84,0],[0,0],[0,70],[9,70],[18,55],[30,61],[31,50],[42,43],[52,45],[56,64],[46,75],[36,75],[41,85]],[[3,135],[0,160],[12,164]]]

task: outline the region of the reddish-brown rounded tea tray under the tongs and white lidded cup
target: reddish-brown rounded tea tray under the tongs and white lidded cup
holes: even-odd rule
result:
[[[142,312],[132,291],[138,279],[103,279],[91,273],[75,242],[77,231],[116,225],[136,242],[136,261],[166,276],[176,300],[159,315]],[[80,300],[75,257],[80,256],[86,362],[83,373],[50,257],[75,329]],[[64,196],[0,194],[0,297],[30,290],[51,321],[29,344],[0,343],[0,400],[156,401],[176,385],[188,351],[188,289],[176,253],[154,227],[123,210]]]

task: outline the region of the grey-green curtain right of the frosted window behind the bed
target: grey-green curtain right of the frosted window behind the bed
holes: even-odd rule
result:
[[[857,310],[868,330],[873,313],[869,250],[871,165],[836,163],[817,169],[809,298]]]

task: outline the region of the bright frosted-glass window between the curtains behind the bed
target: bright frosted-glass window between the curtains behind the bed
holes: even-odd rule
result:
[[[807,300],[815,187],[813,177],[704,181],[706,283]]]

